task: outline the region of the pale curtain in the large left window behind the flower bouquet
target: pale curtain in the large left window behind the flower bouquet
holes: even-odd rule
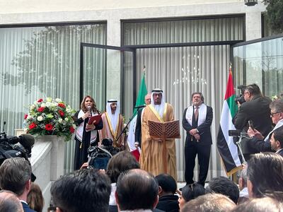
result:
[[[4,122],[8,135],[13,135],[14,129],[21,129],[28,105],[38,98],[61,98],[79,110],[80,42],[105,44],[106,25],[0,28],[1,130]],[[84,82],[83,93],[95,95],[105,82],[100,69],[103,55],[94,50],[86,55],[83,75],[92,81]],[[74,163],[74,141],[66,143],[65,151],[68,172]]]

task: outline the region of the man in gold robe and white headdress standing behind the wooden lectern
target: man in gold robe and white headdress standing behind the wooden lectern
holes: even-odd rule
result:
[[[144,109],[141,126],[141,169],[153,175],[164,173],[163,142],[149,136],[148,121],[170,122],[174,120],[173,107],[165,102],[163,90],[156,88],[151,93],[151,104]],[[177,181],[175,139],[166,139],[167,174]]]

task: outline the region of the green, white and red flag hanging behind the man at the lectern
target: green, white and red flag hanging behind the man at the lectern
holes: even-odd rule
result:
[[[144,68],[145,69],[145,68]],[[145,80],[145,71],[143,71],[143,76],[141,78],[141,86],[139,86],[139,93],[137,95],[137,101],[136,101],[136,107],[140,106],[140,105],[144,105],[144,97],[147,94],[147,89],[146,89],[146,80]],[[135,133],[135,129],[136,129],[136,124],[137,124],[137,108],[134,108],[134,117],[131,121],[131,123],[129,124],[129,134],[128,134],[128,138],[127,138],[127,143],[129,146],[129,151],[137,158],[137,160],[139,161],[139,152],[140,149],[136,148],[134,146],[134,133]]]

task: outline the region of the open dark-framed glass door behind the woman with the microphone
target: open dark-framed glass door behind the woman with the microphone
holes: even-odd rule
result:
[[[124,76],[134,72],[134,61],[135,49],[81,43],[80,100],[91,95],[98,109],[104,111],[107,100],[114,98],[120,101],[120,113],[124,114]],[[133,82],[133,78],[126,80]]]

